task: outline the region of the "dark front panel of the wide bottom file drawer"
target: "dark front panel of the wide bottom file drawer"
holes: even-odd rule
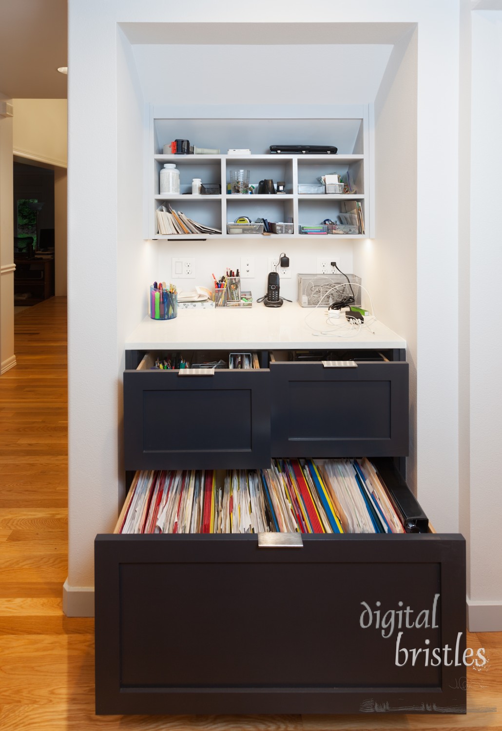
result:
[[[463,664],[424,654],[463,656],[461,536],[101,535],[95,566],[96,713],[465,713]]]

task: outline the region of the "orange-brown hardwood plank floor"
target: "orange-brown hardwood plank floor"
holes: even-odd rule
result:
[[[469,634],[466,716],[94,716],[94,621],[66,618],[66,299],[15,316],[0,378],[0,730],[502,729],[502,632]],[[336,662],[335,659],[333,662]]]

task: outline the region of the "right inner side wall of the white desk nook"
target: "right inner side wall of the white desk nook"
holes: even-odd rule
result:
[[[415,29],[395,45],[376,96],[376,239],[358,242],[354,268],[371,293],[376,316],[406,338],[406,481],[422,500],[417,489],[417,61]]]

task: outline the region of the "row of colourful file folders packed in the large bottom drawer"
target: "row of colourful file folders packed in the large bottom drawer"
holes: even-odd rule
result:
[[[218,477],[218,479],[217,479]],[[138,471],[119,533],[403,533],[368,459],[270,469]]]

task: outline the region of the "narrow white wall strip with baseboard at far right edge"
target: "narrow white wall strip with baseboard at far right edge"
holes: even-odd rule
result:
[[[471,67],[471,221],[470,255],[464,279],[470,281],[471,308],[460,327],[470,331],[470,553],[468,599],[471,629],[502,628],[502,491],[496,460],[501,451],[502,340],[490,310],[502,272],[500,210],[502,179],[502,11],[472,14]],[[465,154],[462,151],[462,154]],[[468,151],[466,151],[468,154]],[[465,289],[461,289],[463,297]],[[496,307],[496,305],[495,305]],[[465,350],[461,353],[465,356]],[[494,465],[495,463],[495,465]],[[495,467],[495,469],[494,469]]]

